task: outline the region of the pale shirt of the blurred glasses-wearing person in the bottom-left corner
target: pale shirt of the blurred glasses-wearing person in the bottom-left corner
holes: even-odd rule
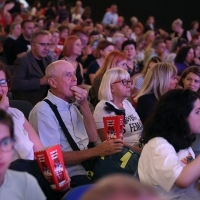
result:
[[[7,170],[0,186],[1,200],[45,200],[36,179],[26,173]]]

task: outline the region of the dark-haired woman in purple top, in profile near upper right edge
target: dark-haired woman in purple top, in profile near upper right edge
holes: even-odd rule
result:
[[[178,51],[174,63],[178,70],[178,76],[181,76],[183,71],[191,66],[194,59],[194,50],[190,46],[183,46]]]

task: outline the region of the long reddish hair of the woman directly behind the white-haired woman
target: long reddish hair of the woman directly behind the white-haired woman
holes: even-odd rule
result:
[[[117,64],[121,62],[122,60],[125,60],[126,58],[127,56],[124,53],[121,53],[119,51],[110,52],[106,56],[102,66],[96,72],[95,78],[102,77],[107,70],[117,67]]]

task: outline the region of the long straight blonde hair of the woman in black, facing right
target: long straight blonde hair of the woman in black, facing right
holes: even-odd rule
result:
[[[177,69],[174,65],[166,62],[156,64],[148,70],[143,86],[135,97],[135,101],[146,94],[154,93],[155,97],[159,99],[169,90],[170,79],[177,75]]]

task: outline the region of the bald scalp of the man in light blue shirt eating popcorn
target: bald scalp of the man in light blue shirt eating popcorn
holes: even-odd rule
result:
[[[58,60],[49,64],[45,70],[45,75],[48,78],[57,77],[62,74],[63,70],[74,69],[72,64],[65,60]]]

